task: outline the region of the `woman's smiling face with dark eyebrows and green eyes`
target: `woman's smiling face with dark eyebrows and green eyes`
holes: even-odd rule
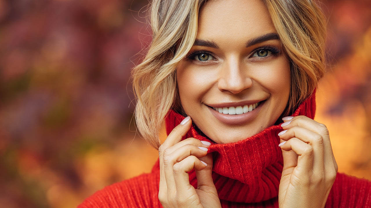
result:
[[[261,0],[211,0],[201,8],[177,84],[185,113],[215,142],[255,135],[285,110],[290,64],[276,33]]]

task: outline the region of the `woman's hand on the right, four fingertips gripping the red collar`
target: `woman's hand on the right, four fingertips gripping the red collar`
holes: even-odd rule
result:
[[[303,115],[282,120],[279,207],[323,208],[338,172],[328,130]]]

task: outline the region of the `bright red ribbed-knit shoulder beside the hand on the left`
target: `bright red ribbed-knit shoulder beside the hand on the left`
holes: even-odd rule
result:
[[[142,174],[95,192],[78,208],[157,208],[161,206],[158,200],[159,181],[158,171]]]

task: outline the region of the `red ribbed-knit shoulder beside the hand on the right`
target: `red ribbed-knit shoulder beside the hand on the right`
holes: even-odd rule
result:
[[[371,208],[371,181],[338,173],[327,207]]]

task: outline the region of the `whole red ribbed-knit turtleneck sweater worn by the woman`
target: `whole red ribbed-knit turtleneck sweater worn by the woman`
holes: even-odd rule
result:
[[[314,94],[305,100],[292,114],[315,114]],[[183,116],[170,111],[166,129],[170,131],[183,120]],[[229,144],[212,144],[213,180],[223,208],[268,207],[278,208],[278,187],[283,160],[278,147],[280,125],[266,128],[246,140]],[[210,141],[194,127],[184,138],[194,137]],[[190,184],[197,187],[194,171],[189,173]],[[158,208],[160,181],[159,161],[151,173],[118,182],[96,192],[78,208]],[[371,208],[371,181],[338,173],[326,202],[326,208]]]

